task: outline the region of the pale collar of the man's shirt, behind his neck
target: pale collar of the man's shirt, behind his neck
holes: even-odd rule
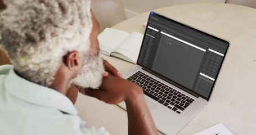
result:
[[[36,83],[19,77],[12,66],[6,78],[6,88],[12,95],[39,106],[50,107],[62,112],[77,115],[73,103],[68,97],[54,89],[40,86]]]

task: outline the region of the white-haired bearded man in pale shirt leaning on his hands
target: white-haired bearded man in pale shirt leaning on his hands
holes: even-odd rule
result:
[[[128,134],[158,134],[142,89],[100,59],[91,1],[5,3],[0,44],[13,66],[0,66],[0,134],[109,134],[84,128],[77,88],[108,104],[125,101]]]

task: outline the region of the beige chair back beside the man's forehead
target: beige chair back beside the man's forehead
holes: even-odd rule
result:
[[[92,11],[100,23],[100,31],[126,19],[123,4],[119,0],[93,0]]]

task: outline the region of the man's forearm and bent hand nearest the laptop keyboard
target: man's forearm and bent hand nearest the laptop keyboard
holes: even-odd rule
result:
[[[142,89],[128,80],[107,75],[99,89],[87,89],[85,95],[107,104],[125,101],[128,114],[128,134],[158,134],[147,108]]]

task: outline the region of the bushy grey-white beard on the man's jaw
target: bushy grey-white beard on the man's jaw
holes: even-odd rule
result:
[[[102,74],[104,73],[104,65],[100,56],[91,51],[83,53],[82,67],[71,83],[82,88],[97,89],[102,83]]]

